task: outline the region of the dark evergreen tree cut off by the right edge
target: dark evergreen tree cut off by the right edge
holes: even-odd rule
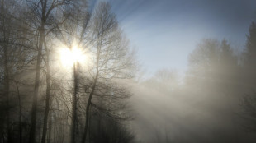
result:
[[[247,43],[244,50],[242,82],[246,86],[244,97],[242,98],[242,107],[244,109],[244,118],[247,119],[246,127],[250,131],[256,131],[256,24],[252,22],[247,35]]]

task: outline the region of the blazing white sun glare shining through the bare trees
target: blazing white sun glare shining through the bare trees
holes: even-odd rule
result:
[[[75,62],[84,62],[85,61],[85,54],[80,48],[73,47],[72,49],[63,48],[60,51],[60,59],[65,67],[73,66]]]

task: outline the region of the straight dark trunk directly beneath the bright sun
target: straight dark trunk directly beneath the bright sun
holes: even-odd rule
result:
[[[72,122],[71,122],[71,143],[75,143],[76,122],[77,122],[77,94],[78,94],[78,73],[76,63],[73,64],[73,99],[72,99]]]

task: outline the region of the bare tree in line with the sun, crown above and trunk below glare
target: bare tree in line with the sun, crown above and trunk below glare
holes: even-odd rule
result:
[[[88,39],[88,24],[90,21],[90,13],[88,12],[87,1],[83,4],[80,1],[74,5],[75,7],[67,7],[66,11],[69,12],[69,18],[65,19],[62,25],[58,25],[58,31],[55,33],[56,39],[64,47],[72,49],[76,44],[79,48],[86,50],[90,40]],[[58,45],[55,45],[58,46]],[[78,63],[73,64],[73,87],[72,87],[72,101],[71,101],[71,127],[70,127],[70,142],[77,141],[77,114],[78,114]]]

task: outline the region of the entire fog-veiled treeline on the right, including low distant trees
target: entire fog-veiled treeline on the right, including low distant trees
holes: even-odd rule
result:
[[[151,92],[170,100],[155,108],[168,108],[170,118],[164,117],[166,131],[160,129],[162,135],[152,142],[256,141],[256,24],[249,26],[240,51],[230,45],[225,39],[202,39],[188,56],[183,78],[164,69],[145,81],[156,90]]]

